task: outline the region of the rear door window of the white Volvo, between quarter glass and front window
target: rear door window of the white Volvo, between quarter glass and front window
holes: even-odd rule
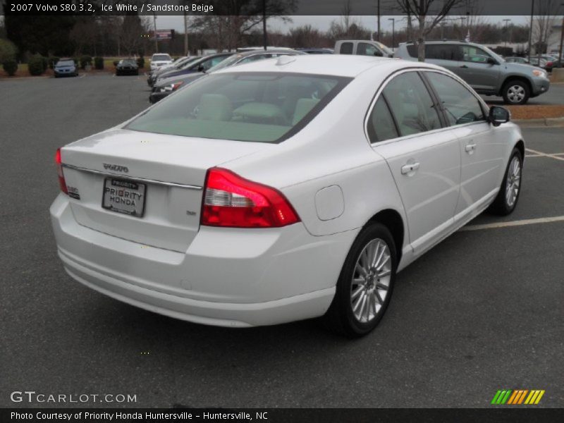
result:
[[[384,95],[401,136],[441,128],[431,94],[417,72],[407,72],[393,78],[384,88]]]

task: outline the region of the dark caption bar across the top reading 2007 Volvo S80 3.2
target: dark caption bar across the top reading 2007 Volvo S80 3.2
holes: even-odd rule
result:
[[[419,4],[419,0],[409,1]],[[396,0],[350,0],[350,15],[376,16],[378,3],[381,16],[405,14]],[[533,0],[458,0],[448,15],[530,16],[532,3]],[[20,16],[119,16],[137,13],[145,16],[180,16],[186,11],[188,15],[244,16],[256,15],[258,10],[262,11],[262,4],[262,0],[0,0],[0,15],[10,13]],[[266,0],[266,15],[341,16],[344,4],[345,0]],[[31,7],[28,7],[29,5]],[[125,10],[123,6],[118,5],[135,6],[135,10]],[[443,0],[431,1],[428,16],[439,13],[442,6]],[[534,14],[562,16],[564,6],[562,1],[534,0]]]

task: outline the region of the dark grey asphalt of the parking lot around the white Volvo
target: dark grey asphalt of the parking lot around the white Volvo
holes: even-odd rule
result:
[[[45,405],[11,402],[26,390],[137,398],[90,406],[489,407],[504,388],[564,406],[564,222],[543,221],[564,215],[562,128],[524,130],[515,213],[479,216],[405,269],[380,326],[349,341],[317,321],[190,324],[73,281],[51,233],[54,152],[145,109],[145,78],[1,80],[0,94],[0,407]]]

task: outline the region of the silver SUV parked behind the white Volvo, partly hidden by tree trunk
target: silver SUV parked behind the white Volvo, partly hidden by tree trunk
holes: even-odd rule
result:
[[[402,43],[395,57],[417,61],[417,45]],[[548,91],[542,69],[509,63],[487,47],[465,41],[425,42],[425,61],[453,71],[480,94],[503,97],[507,104],[525,104]]]

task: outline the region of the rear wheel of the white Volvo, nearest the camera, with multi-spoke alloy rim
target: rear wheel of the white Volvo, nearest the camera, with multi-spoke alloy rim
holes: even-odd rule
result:
[[[343,264],[326,326],[349,338],[364,336],[379,324],[396,280],[393,237],[381,223],[362,229]]]

